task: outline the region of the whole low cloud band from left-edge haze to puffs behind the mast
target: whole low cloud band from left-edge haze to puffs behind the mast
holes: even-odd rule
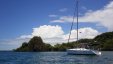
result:
[[[70,41],[76,41],[76,30],[71,31]],[[84,27],[79,29],[79,39],[81,38],[94,38],[99,32],[90,27]],[[56,43],[67,42],[69,33],[65,34],[61,26],[43,25],[33,28],[31,35],[22,35],[17,39],[9,39],[0,41],[0,50],[12,50],[21,46],[23,42],[28,42],[33,36],[41,36],[45,43],[55,45]],[[7,46],[7,47],[4,47]]]

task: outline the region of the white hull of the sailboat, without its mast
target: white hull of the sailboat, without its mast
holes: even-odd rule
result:
[[[85,48],[67,49],[67,53],[71,55],[101,55],[101,52]]]

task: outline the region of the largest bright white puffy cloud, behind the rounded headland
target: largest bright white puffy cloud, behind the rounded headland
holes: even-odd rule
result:
[[[44,42],[50,43],[52,45],[56,43],[62,43],[64,31],[58,25],[43,25],[40,27],[33,28],[31,35],[22,35],[19,39],[32,38],[33,36],[41,36]]]

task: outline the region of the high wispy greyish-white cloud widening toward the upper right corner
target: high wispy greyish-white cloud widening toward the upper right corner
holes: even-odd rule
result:
[[[75,18],[76,20],[76,18]],[[72,16],[62,16],[57,20],[51,22],[72,22]],[[79,17],[79,22],[98,23],[100,26],[108,28],[112,31],[113,28],[113,1],[104,6],[104,8],[96,11],[88,11],[84,16]]]

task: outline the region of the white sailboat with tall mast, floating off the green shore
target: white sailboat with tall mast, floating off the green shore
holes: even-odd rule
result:
[[[77,14],[77,43],[78,43],[78,0],[76,0],[76,10],[77,10],[76,14]],[[71,35],[72,26],[74,23],[74,17],[75,17],[75,13],[73,16],[73,22],[72,22],[71,29],[70,29],[70,35]],[[69,35],[69,39],[70,39],[70,35]],[[69,39],[68,39],[68,43],[69,43]],[[67,49],[67,53],[71,55],[101,55],[100,51],[86,49],[85,47]]]

